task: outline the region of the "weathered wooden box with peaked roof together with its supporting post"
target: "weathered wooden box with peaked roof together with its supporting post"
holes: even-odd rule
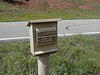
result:
[[[31,0],[32,1],[32,0]],[[49,75],[49,55],[57,52],[57,22],[61,19],[30,20],[30,45],[38,56],[38,75]]]

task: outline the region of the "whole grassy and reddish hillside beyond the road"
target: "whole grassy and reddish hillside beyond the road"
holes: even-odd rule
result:
[[[100,0],[0,0],[0,21],[100,18]]]

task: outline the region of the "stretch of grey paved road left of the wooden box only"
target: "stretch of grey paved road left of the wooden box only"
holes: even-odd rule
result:
[[[26,37],[29,36],[27,22],[1,22],[0,38]]]

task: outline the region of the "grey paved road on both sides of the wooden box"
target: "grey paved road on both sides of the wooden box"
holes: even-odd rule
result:
[[[0,39],[29,37],[28,22],[0,22]],[[59,34],[100,32],[100,19],[62,20],[58,22]]]

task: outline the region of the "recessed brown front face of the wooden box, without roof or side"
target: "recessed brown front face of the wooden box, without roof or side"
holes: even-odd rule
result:
[[[57,24],[48,23],[43,25],[36,25],[35,29],[35,52],[52,52],[57,50]],[[41,53],[40,53],[41,54]]]

